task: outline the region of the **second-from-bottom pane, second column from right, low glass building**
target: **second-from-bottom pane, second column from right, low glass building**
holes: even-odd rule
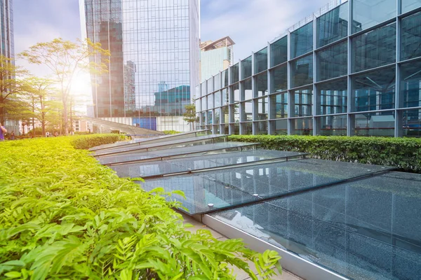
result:
[[[352,77],[354,111],[394,109],[395,67]]]

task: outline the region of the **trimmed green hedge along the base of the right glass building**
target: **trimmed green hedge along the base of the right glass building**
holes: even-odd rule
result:
[[[232,135],[230,141],[258,142],[262,148],[310,153],[313,158],[398,167],[421,173],[421,139]]]

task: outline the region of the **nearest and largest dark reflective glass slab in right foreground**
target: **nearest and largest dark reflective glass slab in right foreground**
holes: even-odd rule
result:
[[[419,279],[421,176],[390,172],[211,214],[349,279]]]

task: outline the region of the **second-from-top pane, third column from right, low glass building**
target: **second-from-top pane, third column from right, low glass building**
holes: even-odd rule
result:
[[[348,73],[347,42],[331,45],[317,53],[319,58],[319,74],[317,80],[328,80]]]

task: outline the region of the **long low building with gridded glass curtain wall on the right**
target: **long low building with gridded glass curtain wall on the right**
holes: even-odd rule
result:
[[[196,97],[213,132],[421,137],[421,1],[333,1]]]

